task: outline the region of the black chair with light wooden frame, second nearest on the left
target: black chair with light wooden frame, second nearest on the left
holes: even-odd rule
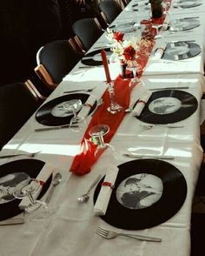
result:
[[[37,51],[35,71],[50,90],[54,90],[80,60],[74,47],[70,40],[56,40]]]

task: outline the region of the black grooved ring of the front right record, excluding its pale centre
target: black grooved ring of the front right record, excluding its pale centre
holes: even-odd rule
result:
[[[175,215],[187,196],[187,183],[182,172],[174,165],[157,159],[138,159],[119,165],[115,187],[109,200],[107,212],[101,218],[111,226],[137,230],[157,226]],[[142,209],[129,209],[116,199],[116,191],[123,180],[146,172],[162,180],[162,196],[153,205]],[[96,186],[94,202],[100,192],[103,179]]]

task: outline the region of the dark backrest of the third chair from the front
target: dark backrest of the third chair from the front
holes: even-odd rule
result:
[[[96,40],[102,35],[102,26],[98,22],[97,18],[83,18],[77,20],[72,25],[78,42],[82,45],[84,51],[89,51],[89,48],[96,42]]]

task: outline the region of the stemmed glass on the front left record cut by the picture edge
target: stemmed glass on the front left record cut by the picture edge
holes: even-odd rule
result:
[[[46,209],[48,205],[38,199],[34,199],[39,190],[41,190],[42,185],[37,179],[24,179],[20,182],[14,189],[13,195],[16,199],[28,199],[28,204],[23,206],[25,213],[30,213],[36,211],[41,205]]]

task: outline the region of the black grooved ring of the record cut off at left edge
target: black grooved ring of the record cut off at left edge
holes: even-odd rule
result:
[[[0,178],[14,172],[24,172],[27,173],[30,178],[35,179],[38,173],[41,172],[43,165],[45,165],[43,161],[31,158],[12,161],[4,165],[0,165]],[[40,193],[38,199],[41,199],[43,194],[47,192],[50,187],[51,180],[52,175],[50,176],[50,179],[46,181],[45,185],[43,185],[42,192]],[[14,199],[12,201],[0,204],[0,221],[4,219],[10,219],[23,212],[18,207],[20,202],[21,199]]]

